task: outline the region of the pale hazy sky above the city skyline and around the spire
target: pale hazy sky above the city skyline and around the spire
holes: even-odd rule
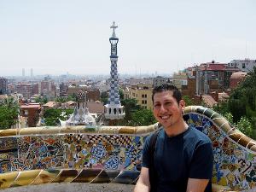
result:
[[[0,0],[0,76],[110,71],[173,73],[206,61],[256,59],[254,0]]]

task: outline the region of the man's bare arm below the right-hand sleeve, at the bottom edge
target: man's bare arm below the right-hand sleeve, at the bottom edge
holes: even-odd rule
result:
[[[209,179],[189,178],[187,192],[204,192]]]

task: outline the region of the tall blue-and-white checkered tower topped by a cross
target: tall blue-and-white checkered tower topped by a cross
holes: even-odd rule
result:
[[[110,61],[111,61],[111,70],[110,70],[110,90],[109,90],[109,98],[108,104],[105,105],[105,118],[106,119],[123,119],[125,117],[124,107],[121,106],[120,98],[119,98],[119,79],[118,79],[118,70],[117,70],[117,44],[119,42],[119,38],[115,35],[115,29],[118,26],[115,26],[115,22],[113,21],[113,25],[110,26],[113,29],[112,37],[109,38],[109,42],[111,44],[111,52],[110,52]]]

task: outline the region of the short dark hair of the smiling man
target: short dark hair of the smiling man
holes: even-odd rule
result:
[[[177,103],[179,103],[182,100],[182,94],[180,90],[177,89],[176,86],[169,85],[169,84],[162,84],[158,87],[154,87],[153,94],[152,94],[152,102],[154,102],[154,94],[161,93],[168,90],[172,91],[172,96],[176,99]]]

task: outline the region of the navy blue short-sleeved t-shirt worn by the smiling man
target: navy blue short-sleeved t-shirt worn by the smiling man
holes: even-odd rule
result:
[[[149,142],[143,147],[142,166],[149,168]],[[189,178],[210,179],[205,191],[212,191],[212,142],[193,127],[175,136],[168,137],[162,129],[157,137],[154,152],[157,192],[183,192]]]

